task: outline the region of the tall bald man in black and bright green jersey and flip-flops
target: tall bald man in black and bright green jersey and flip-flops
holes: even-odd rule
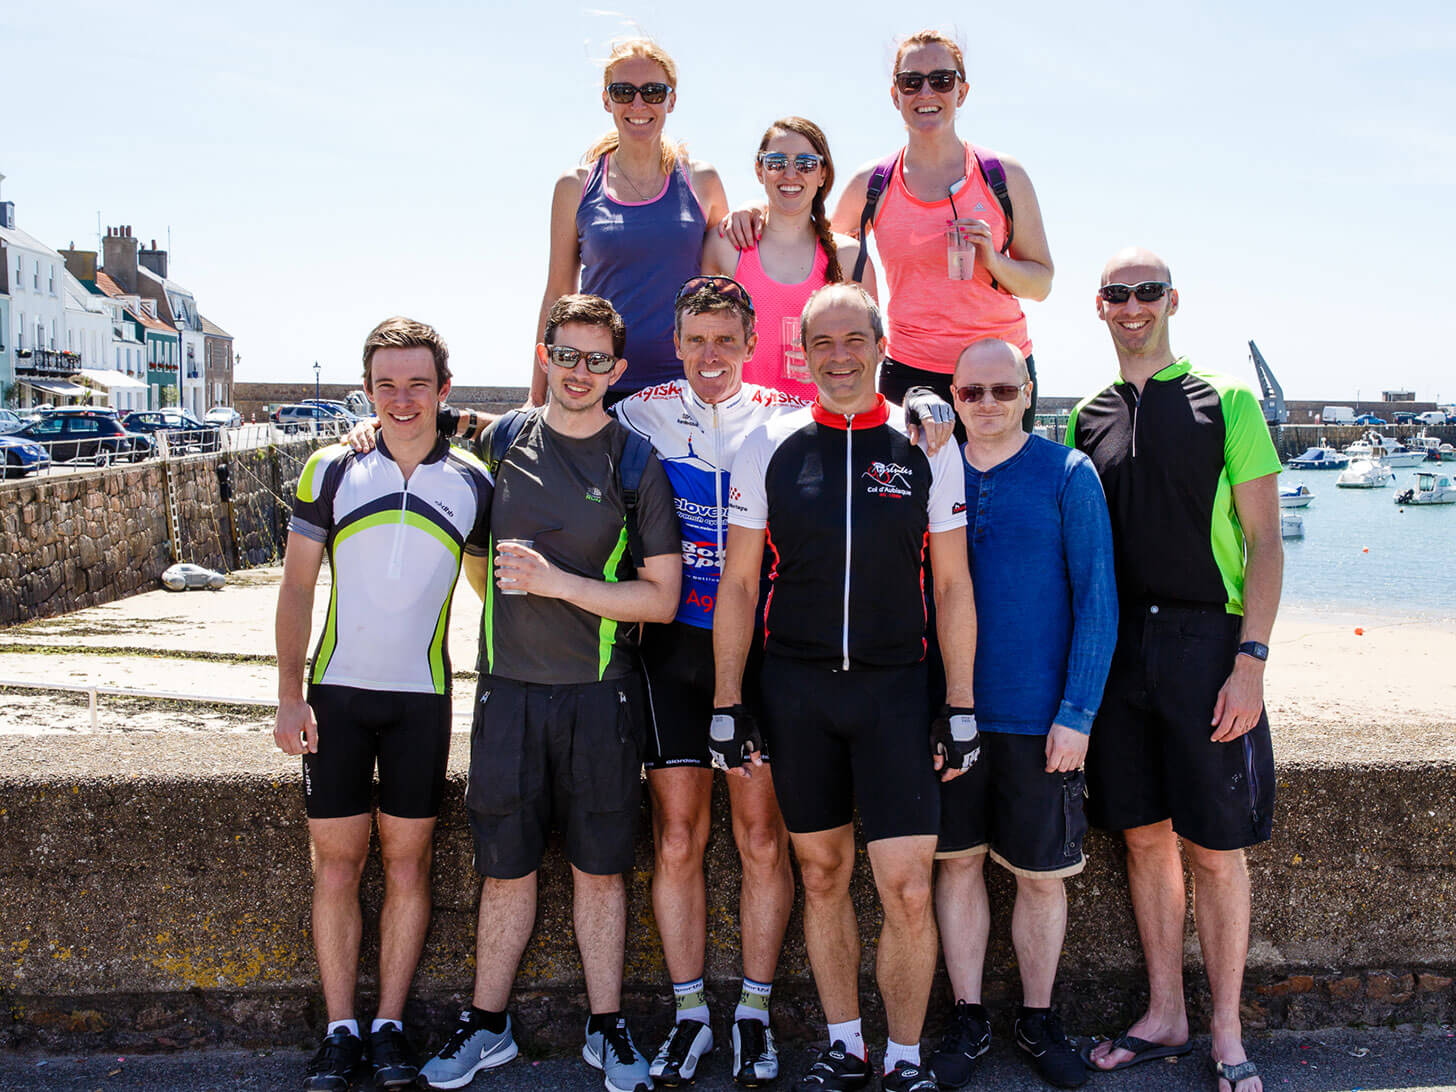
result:
[[[1274,814],[1264,662],[1283,577],[1280,460],[1246,384],[1174,355],[1176,310],[1158,255],[1130,249],[1107,264],[1096,312],[1121,374],[1067,422],[1067,443],[1091,456],[1107,492],[1120,607],[1088,812],[1127,842],[1150,987],[1144,1015],[1089,1061],[1125,1069],[1192,1050],[1181,837],[1213,993],[1208,1060],[1220,1092],[1258,1092],[1239,1024],[1243,850],[1268,840]]]

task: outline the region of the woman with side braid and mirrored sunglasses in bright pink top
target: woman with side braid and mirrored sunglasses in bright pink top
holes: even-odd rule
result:
[[[769,125],[754,170],[769,198],[763,236],[757,246],[738,250],[711,232],[703,272],[732,277],[753,298],[759,344],[743,365],[744,381],[812,402],[818,392],[804,361],[799,313],[817,288],[846,280],[859,243],[830,230],[824,202],[834,186],[834,160],[812,121],[779,118]],[[875,293],[875,269],[868,262],[863,284]]]

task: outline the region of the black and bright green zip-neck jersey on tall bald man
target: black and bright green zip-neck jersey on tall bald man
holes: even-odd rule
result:
[[[1243,527],[1233,486],[1280,472],[1254,392],[1176,360],[1143,384],[1082,400],[1067,444],[1096,466],[1112,515],[1124,604],[1243,613]]]

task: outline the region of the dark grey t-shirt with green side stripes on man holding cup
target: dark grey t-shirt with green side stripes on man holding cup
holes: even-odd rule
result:
[[[488,428],[476,443],[491,450]],[[578,440],[533,414],[495,472],[491,507],[491,571],[480,632],[482,674],[521,683],[594,683],[636,670],[641,626],[613,622],[565,600],[502,596],[495,585],[495,543],[531,539],[552,565],[593,579],[632,579],[626,505],[617,464],[628,430],[610,421]],[[645,556],[681,556],[673,488],[657,456],[638,488],[638,527]]]

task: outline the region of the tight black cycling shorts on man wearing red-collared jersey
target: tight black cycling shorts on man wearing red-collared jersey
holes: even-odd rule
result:
[[[791,833],[843,827],[856,805],[866,842],[941,828],[925,664],[834,671],[770,652],[761,700]]]

